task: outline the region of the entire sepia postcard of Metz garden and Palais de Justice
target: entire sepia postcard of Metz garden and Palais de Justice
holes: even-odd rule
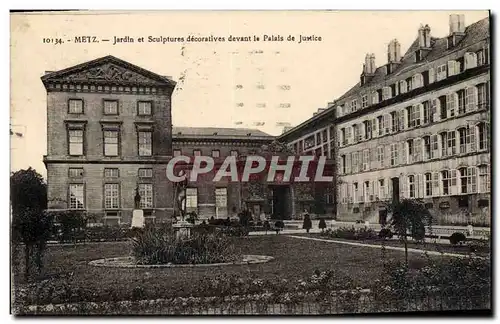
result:
[[[12,314],[491,314],[489,11],[10,20]]]

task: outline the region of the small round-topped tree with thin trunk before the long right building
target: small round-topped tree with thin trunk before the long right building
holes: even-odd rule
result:
[[[389,206],[392,211],[391,226],[403,242],[408,267],[408,236],[415,241],[425,239],[425,226],[432,224],[432,215],[424,203],[415,199],[404,199]]]

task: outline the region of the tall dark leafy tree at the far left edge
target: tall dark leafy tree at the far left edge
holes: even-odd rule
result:
[[[31,274],[34,261],[42,268],[43,252],[52,232],[53,217],[47,213],[47,185],[42,176],[31,167],[14,172],[10,177],[12,208],[12,241],[24,243],[25,277]],[[34,257],[34,260],[33,260]]]

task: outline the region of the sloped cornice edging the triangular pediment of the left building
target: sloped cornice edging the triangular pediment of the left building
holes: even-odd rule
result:
[[[78,73],[84,72],[86,70],[91,70],[92,68],[99,67],[99,66],[105,66],[106,64],[113,64],[116,66],[119,66],[125,70],[128,71],[133,71],[141,76],[144,76],[145,78],[149,78],[152,81],[155,81],[159,84],[167,85],[171,88],[175,87],[176,82],[169,77],[163,76],[156,74],[154,72],[151,72],[149,70],[143,69],[137,65],[134,65],[132,63],[129,63],[127,61],[124,61],[122,59],[119,59],[115,56],[112,55],[107,55],[104,57],[97,58],[95,60],[87,61],[81,64],[77,64],[71,67],[68,67],[63,70],[59,70],[56,72],[50,72],[44,76],[42,76],[42,82],[44,84],[47,81],[51,80],[59,80],[59,79],[65,79],[67,77],[71,77],[74,75],[78,75]]]

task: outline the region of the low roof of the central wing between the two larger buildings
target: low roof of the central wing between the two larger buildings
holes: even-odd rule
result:
[[[173,127],[172,136],[174,138],[182,137],[204,137],[204,138],[256,138],[266,137],[269,139],[274,136],[264,133],[258,129],[252,128],[221,128],[221,127]]]

